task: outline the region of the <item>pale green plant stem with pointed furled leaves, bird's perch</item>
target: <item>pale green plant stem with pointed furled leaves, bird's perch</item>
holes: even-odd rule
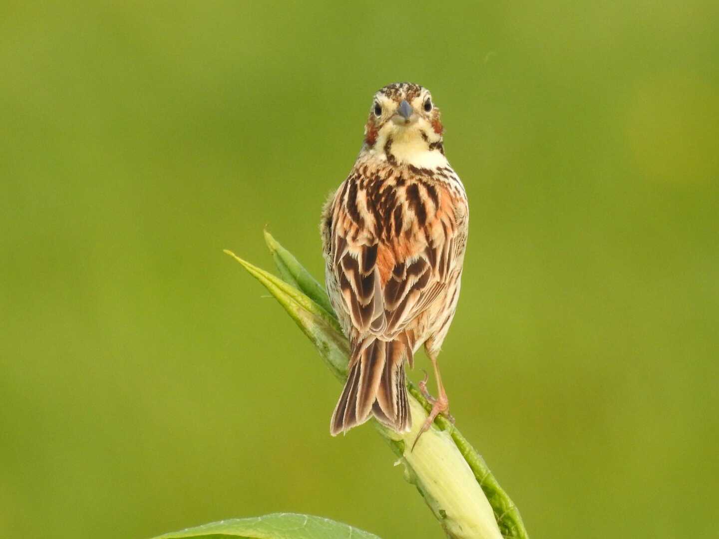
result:
[[[266,234],[266,239],[267,236],[269,234]],[[298,280],[293,275],[300,275],[306,270],[272,236],[270,239],[273,244],[270,249],[274,248],[273,257],[280,273],[288,274],[290,282],[303,287],[302,283],[307,281]],[[260,270],[232,252],[226,253],[237,259],[267,287],[315,344],[336,377],[344,380],[349,359],[347,339],[339,328],[334,312],[322,308],[309,295],[320,294],[326,298],[324,290],[318,292],[313,286],[298,290],[293,284]],[[288,269],[290,267],[291,271]],[[436,428],[431,428],[423,435],[423,440],[415,450],[408,451],[422,418],[426,418],[426,410],[431,407],[413,384],[408,386],[412,396],[410,405],[413,423],[417,423],[413,426],[413,432],[394,433],[376,422],[375,426],[400,457],[398,462],[405,465],[406,479],[417,487],[447,535],[452,538],[528,538],[516,506],[500,488],[482,457],[452,423],[445,418],[437,418]]]

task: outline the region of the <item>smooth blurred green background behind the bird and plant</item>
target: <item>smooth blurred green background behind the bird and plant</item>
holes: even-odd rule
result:
[[[532,537],[715,537],[715,1],[39,4],[0,8],[1,537],[296,511],[441,538],[371,427],[329,436],[339,384],[221,252],[272,267],[267,225],[321,276],[396,80],[472,208],[452,412]]]

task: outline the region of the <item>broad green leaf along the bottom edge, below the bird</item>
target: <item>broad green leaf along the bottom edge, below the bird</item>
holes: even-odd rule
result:
[[[166,533],[155,539],[380,539],[377,535],[342,522],[297,513],[273,513],[264,517],[234,518],[196,528]]]

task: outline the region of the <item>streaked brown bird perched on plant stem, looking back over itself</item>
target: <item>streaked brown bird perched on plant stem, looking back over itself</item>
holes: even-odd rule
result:
[[[325,284],[351,350],[332,436],[372,416],[395,432],[411,429],[405,364],[413,367],[421,346],[438,395],[425,373],[419,387],[432,407],[414,445],[437,415],[452,419],[437,356],[459,300],[469,206],[443,132],[429,90],[381,88],[357,160],[324,204]]]

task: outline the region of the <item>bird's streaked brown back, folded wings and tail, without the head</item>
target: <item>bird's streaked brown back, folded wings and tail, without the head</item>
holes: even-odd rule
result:
[[[411,424],[403,366],[412,363],[418,340],[428,338],[416,331],[424,331],[418,317],[458,275],[466,221],[458,226],[456,202],[427,183],[377,186],[350,177],[326,206],[328,290],[352,343],[331,433],[370,412],[398,431]]]

